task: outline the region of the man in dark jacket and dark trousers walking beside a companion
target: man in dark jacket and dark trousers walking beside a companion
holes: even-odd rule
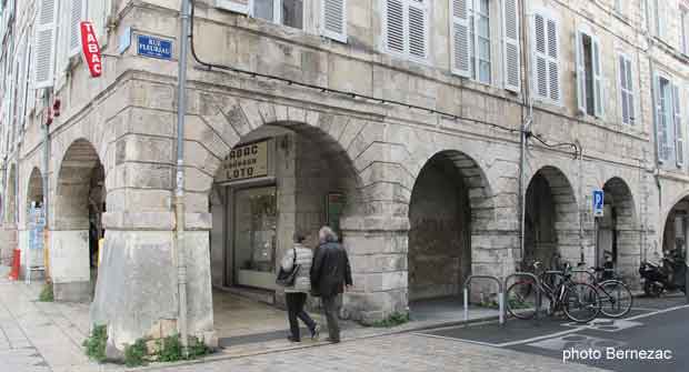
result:
[[[344,285],[352,285],[351,268],[347,251],[338,243],[338,237],[329,227],[318,232],[320,245],[313,252],[311,264],[311,291],[322,300],[323,311],[328,320],[329,341],[340,342],[338,324],[338,295],[344,292]]]

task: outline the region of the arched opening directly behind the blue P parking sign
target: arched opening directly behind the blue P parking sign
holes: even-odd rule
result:
[[[640,264],[641,245],[640,229],[633,195],[628,183],[619,177],[606,181],[603,218],[598,221],[598,264],[602,264],[601,257],[606,247],[610,247],[610,254],[619,272],[626,277],[635,275]],[[609,231],[609,238],[606,234]],[[609,239],[610,241],[606,241]],[[602,248],[602,250],[601,250]]]

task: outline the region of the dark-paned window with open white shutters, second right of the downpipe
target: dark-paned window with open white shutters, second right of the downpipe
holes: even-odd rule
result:
[[[577,101],[580,112],[602,117],[602,73],[600,43],[596,37],[577,32]]]

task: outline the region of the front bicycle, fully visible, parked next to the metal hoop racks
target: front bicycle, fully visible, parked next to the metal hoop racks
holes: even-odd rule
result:
[[[540,264],[535,262],[533,269],[538,271]],[[590,322],[601,310],[598,291],[591,284],[573,282],[571,275],[571,268],[567,267],[565,271],[543,271],[536,283],[528,278],[511,284],[507,290],[507,310],[517,319],[532,319],[541,305],[540,292],[549,300],[550,314],[561,309],[573,322]]]

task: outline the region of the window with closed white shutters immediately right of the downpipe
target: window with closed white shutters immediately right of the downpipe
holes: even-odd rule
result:
[[[533,16],[535,91],[543,101],[560,103],[559,22],[551,16]]]

